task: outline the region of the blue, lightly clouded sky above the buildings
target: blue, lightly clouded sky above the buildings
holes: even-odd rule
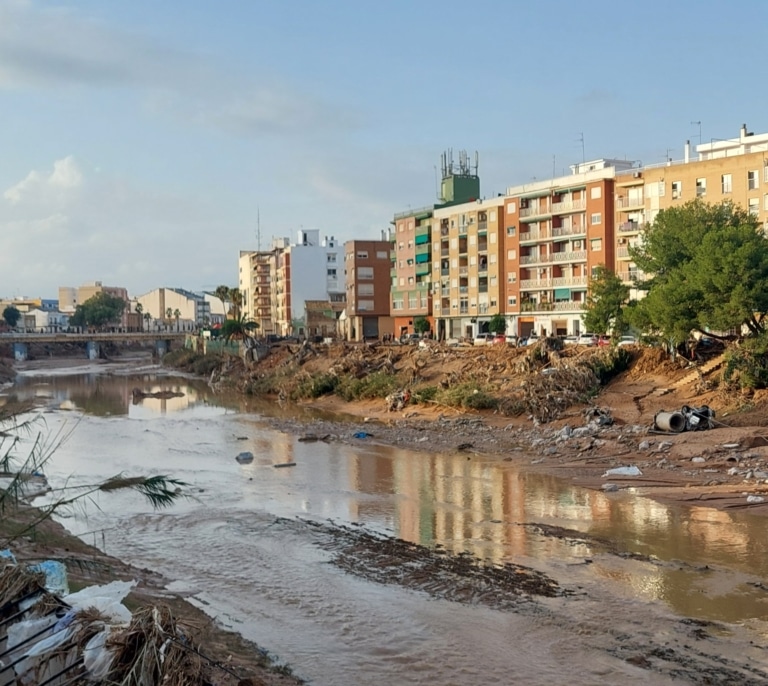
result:
[[[0,0],[0,297],[237,285],[582,159],[768,131],[764,0]],[[699,124],[700,122],[700,124]]]

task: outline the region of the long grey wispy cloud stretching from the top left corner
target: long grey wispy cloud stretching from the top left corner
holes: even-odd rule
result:
[[[219,64],[66,8],[0,0],[0,89],[66,87],[131,89],[156,114],[235,136],[356,125],[279,74]]]

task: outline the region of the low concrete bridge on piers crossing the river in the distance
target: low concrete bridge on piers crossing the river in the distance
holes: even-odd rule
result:
[[[171,349],[173,341],[183,341],[189,332],[182,331],[150,331],[124,332],[113,331],[95,333],[2,333],[0,343],[10,343],[13,346],[13,357],[17,362],[26,360],[29,356],[29,345],[43,343],[57,345],[62,343],[85,343],[85,353],[90,360],[97,360],[101,354],[102,343],[130,343],[139,341],[152,343],[155,354],[162,357]]]

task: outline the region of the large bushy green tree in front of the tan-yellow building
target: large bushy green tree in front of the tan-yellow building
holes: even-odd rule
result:
[[[662,210],[630,255],[650,275],[631,316],[666,340],[682,343],[692,330],[766,330],[768,241],[745,209],[694,200]]]

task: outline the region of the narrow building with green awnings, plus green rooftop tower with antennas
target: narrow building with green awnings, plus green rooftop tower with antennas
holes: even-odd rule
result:
[[[465,151],[459,153],[456,163],[451,151],[442,155],[442,181],[440,202],[416,210],[395,214],[392,221],[391,241],[391,312],[395,335],[413,333],[417,317],[430,321],[434,331],[432,313],[433,283],[433,214],[436,209],[475,201],[480,197],[480,177],[475,164],[470,163]]]

